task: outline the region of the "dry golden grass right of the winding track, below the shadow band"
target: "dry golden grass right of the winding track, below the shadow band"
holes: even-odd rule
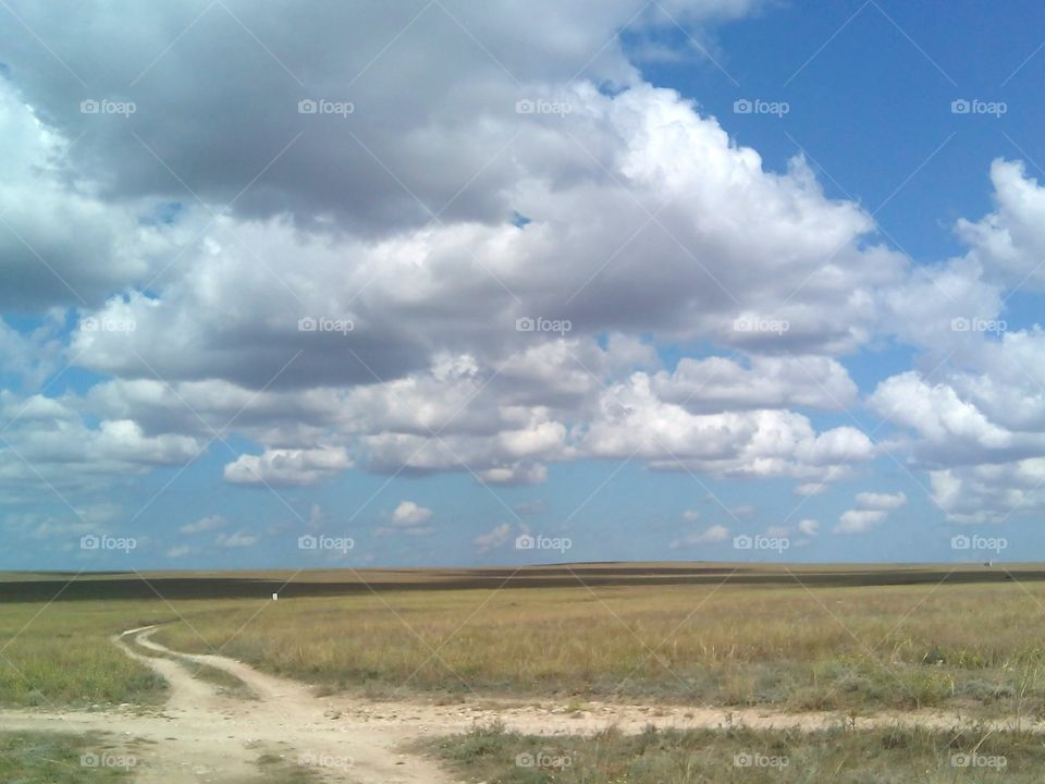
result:
[[[158,639],[383,695],[1036,714],[1045,712],[1043,608],[1045,587],[1013,583],[406,591],[226,602]]]

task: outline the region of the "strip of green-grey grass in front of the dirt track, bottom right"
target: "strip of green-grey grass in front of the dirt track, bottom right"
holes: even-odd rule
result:
[[[1040,736],[974,730],[536,737],[494,725],[422,748],[466,781],[489,784],[1036,784],[1045,770]]]

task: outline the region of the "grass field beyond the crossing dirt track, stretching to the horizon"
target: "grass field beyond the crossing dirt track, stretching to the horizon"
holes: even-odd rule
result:
[[[94,575],[46,609],[0,605],[0,702],[155,701],[162,683],[108,636],[161,623],[156,638],[171,648],[220,649],[329,691],[1045,716],[1045,585],[1030,577],[1036,567],[1009,566],[1018,581],[966,567],[943,584],[939,566],[795,567],[808,573],[802,585],[779,567],[745,567],[739,584],[723,584],[733,567],[714,564],[571,568],[589,587],[576,578],[560,586],[563,567],[525,569],[521,583],[501,576],[492,588],[490,569],[360,573],[373,590],[357,574],[312,572],[273,602],[271,586],[292,573],[182,574],[148,578],[153,587],[164,578],[199,584],[190,596],[234,580],[233,598],[65,598],[85,585],[135,584]],[[984,574],[986,581],[973,579]],[[672,581],[679,578],[688,581]],[[462,581],[476,587],[456,587]],[[310,585],[348,590],[294,598],[292,586]],[[244,586],[255,593],[235,598]]]

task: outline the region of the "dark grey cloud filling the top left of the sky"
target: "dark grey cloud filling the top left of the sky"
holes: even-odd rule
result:
[[[626,26],[691,25],[753,4],[126,0],[60,10],[16,1],[11,13],[24,26],[5,24],[0,41],[39,114],[67,137],[89,132],[78,158],[110,193],[190,191],[217,205],[239,195],[243,216],[290,212],[302,224],[380,232],[440,210],[450,222],[502,218],[518,172],[512,156],[491,161],[516,131],[517,100],[581,74],[636,82],[617,38]],[[85,115],[85,98],[131,100],[136,110]],[[309,98],[355,111],[299,114]],[[554,132],[538,131],[528,146],[531,157],[543,150],[542,176],[590,173]],[[477,174],[482,187],[458,193]]]

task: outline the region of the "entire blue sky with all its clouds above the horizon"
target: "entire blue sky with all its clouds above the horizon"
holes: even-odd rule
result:
[[[1038,3],[0,17],[0,568],[1045,558]]]

